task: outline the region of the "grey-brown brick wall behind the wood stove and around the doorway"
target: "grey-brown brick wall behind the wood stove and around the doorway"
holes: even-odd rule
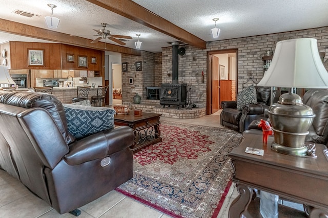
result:
[[[196,104],[197,107],[206,107],[207,53],[209,51],[238,49],[237,89],[242,90],[243,87],[253,83],[248,81],[248,73],[252,74],[255,83],[258,83],[263,77],[264,71],[261,55],[270,49],[274,51],[278,41],[294,38],[316,38],[318,40],[319,52],[325,52],[324,62],[328,63],[328,27],[219,40],[208,42],[206,50],[199,50],[191,45],[183,46],[186,49],[186,54],[182,57],[179,56],[179,83],[187,83],[188,88],[191,85],[192,89],[187,95],[188,97],[190,96],[190,101]],[[154,61],[153,64],[147,63],[151,60]],[[135,71],[135,61],[143,61],[142,71]],[[146,71],[144,71],[144,61],[146,62],[145,65],[149,64],[145,69]],[[142,52],[141,57],[122,55],[122,62],[129,63],[129,71],[125,72],[126,76],[122,75],[122,99],[124,101],[133,102],[135,92],[142,93],[142,99],[146,99],[146,86],[172,83],[171,46],[163,48],[162,53],[158,54]],[[328,70],[327,65],[326,69]],[[201,82],[202,71],[204,72],[203,83]],[[135,79],[138,77],[142,78],[143,74],[145,82],[142,82],[141,79]],[[128,77],[134,77],[134,85],[127,85]],[[160,77],[161,81],[159,81]]]

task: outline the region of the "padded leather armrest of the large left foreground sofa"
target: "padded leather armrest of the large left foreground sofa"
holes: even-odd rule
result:
[[[119,126],[70,144],[70,152],[65,155],[64,159],[70,165],[78,165],[124,150],[133,142],[133,130],[128,126]]]

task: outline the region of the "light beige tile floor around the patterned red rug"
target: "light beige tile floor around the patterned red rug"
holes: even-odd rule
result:
[[[172,119],[162,117],[161,120],[183,122],[204,126],[220,126],[218,115],[207,115],[196,119]],[[24,185],[0,170],[0,217],[75,217],[70,213],[59,214],[46,202],[34,196]],[[238,195],[235,184],[230,188],[228,196],[223,203],[218,218],[228,217],[228,208]],[[121,193],[113,190],[107,195],[79,208],[81,218],[114,217],[114,218],[169,218],[151,207],[141,204]],[[206,217],[204,217],[206,218]]]

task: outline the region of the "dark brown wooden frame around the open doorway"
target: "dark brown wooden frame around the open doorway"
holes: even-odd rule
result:
[[[212,59],[211,55],[236,53],[236,97],[238,93],[238,49],[224,49],[207,52],[207,88],[206,88],[206,114],[212,114]]]

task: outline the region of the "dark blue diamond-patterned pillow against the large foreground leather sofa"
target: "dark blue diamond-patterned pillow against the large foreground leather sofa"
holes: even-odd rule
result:
[[[68,131],[80,139],[94,133],[114,128],[113,108],[63,104]]]

